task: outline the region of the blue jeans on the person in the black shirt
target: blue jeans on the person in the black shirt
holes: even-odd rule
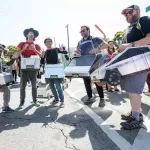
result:
[[[56,100],[64,102],[64,93],[61,87],[62,79],[49,79],[49,86]]]

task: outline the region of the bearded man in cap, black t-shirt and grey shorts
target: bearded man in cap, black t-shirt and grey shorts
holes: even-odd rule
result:
[[[137,5],[129,6],[122,11],[122,15],[130,24],[123,38],[123,43],[119,46],[120,51],[127,47],[139,47],[150,44],[150,18],[140,17],[140,8]],[[139,73],[122,78],[121,88],[129,94],[131,111],[128,115],[122,115],[121,125],[127,130],[141,128],[143,116],[140,113],[141,94],[144,89],[148,72]]]

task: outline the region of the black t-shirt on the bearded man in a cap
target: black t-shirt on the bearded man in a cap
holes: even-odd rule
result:
[[[138,29],[137,27],[138,22],[141,26],[141,29]],[[144,16],[136,21],[133,25],[128,27],[127,32],[123,37],[122,43],[136,42],[146,37],[148,33],[150,33],[150,17]]]

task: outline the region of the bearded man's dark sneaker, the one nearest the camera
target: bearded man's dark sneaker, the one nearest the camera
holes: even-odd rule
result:
[[[130,116],[130,119],[126,122],[121,122],[120,125],[126,130],[133,130],[137,128],[142,128],[143,122],[141,120],[136,120],[135,117]]]

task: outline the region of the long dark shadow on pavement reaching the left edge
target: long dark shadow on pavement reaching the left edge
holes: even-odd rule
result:
[[[30,105],[14,113],[0,113],[0,133],[5,130],[26,127],[31,123],[43,123],[43,126],[47,126],[48,123],[54,122],[57,119],[58,107],[41,106],[33,114],[26,114],[32,107],[33,105]]]

